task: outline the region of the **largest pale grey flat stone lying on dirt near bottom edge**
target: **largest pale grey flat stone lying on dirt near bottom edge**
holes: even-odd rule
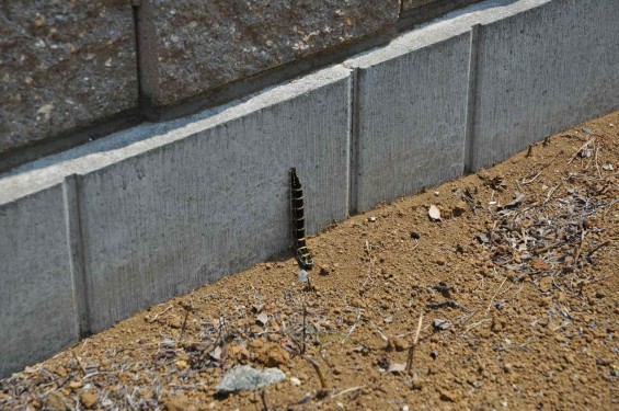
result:
[[[279,368],[255,369],[250,365],[237,365],[223,374],[217,386],[219,392],[253,391],[286,379]]]

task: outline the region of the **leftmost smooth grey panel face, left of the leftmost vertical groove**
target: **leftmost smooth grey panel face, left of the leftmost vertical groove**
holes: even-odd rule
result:
[[[62,186],[0,202],[0,377],[78,341]]]

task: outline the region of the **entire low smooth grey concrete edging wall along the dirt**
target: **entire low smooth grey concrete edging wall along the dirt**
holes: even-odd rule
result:
[[[618,11],[481,2],[331,68],[0,175],[0,375],[285,250],[290,167],[316,233],[618,110]],[[45,343],[28,339],[35,329]]]

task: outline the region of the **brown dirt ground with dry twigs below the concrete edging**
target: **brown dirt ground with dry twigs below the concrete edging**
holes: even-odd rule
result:
[[[286,253],[139,312],[0,408],[618,410],[618,169],[616,112],[329,227],[309,286]],[[286,379],[218,395],[237,364]]]

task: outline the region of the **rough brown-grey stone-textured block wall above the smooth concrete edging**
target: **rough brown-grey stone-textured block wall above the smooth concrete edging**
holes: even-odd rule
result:
[[[401,11],[402,0],[5,2],[0,171],[328,67],[396,36]]]

